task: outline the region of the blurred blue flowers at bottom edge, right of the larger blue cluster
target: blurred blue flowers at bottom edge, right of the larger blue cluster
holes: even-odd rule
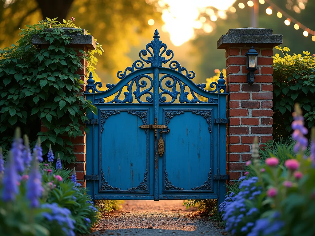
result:
[[[279,220],[279,216],[279,213],[275,213],[272,219],[258,219],[247,236],[265,236],[271,234],[273,236],[278,236],[278,232],[284,227],[284,222]]]

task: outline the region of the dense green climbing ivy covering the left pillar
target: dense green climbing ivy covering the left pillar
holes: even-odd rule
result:
[[[94,53],[101,54],[103,49],[97,44],[95,50],[79,51],[79,57],[69,47],[71,37],[62,28],[83,30],[73,23],[74,18],[63,23],[56,19],[26,25],[17,46],[0,49],[0,143],[8,149],[14,127],[20,126],[33,145],[40,137],[44,154],[51,144],[55,154],[70,163],[75,160],[71,137],[83,134],[86,112],[96,113],[91,101],[79,92],[83,81],[75,72],[82,67],[82,58],[88,60],[88,70],[93,71],[97,62]],[[49,42],[47,48],[31,44],[35,34]],[[41,122],[47,132],[40,132]]]

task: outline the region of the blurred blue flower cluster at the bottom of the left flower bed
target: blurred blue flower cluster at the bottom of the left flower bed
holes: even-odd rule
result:
[[[42,215],[48,221],[57,221],[67,236],[75,236],[75,233],[73,231],[75,220],[70,217],[71,211],[69,209],[59,207],[57,203],[46,203],[43,204],[41,207],[51,210],[51,213],[42,213]]]

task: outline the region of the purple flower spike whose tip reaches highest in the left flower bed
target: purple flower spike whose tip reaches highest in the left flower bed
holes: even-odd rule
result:
[[[20,128],[16,128],[15,135],[12,143],[12,156],[14,158],[14,165],[16,168],[16,171],[23,172],[24,171],[24,161],[22,159],[22,151],[23,151],[23,139],[21,138],[21,132]]]

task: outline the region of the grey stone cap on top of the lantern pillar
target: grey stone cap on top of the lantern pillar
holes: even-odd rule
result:
[[[222,35],[217,41],[217,48],[227,48],[231,44],[268,44],[268,46],[278,46],[283,41],[283,35],[273,34],[272,29],[263,28],[239,28],[229,29],[226,35]]]

